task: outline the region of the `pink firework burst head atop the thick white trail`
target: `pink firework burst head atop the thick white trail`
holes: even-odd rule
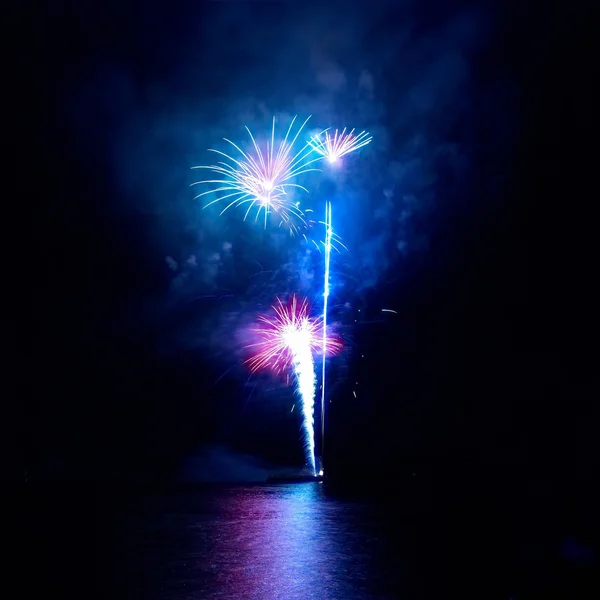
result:
[[[246,346],[252,351],[246,361],[251,372],[270,369],[280,374],[293,366],[298,355],[323,353],[323,320],[310,316],[306,299],[294,295],[283,302],[277,298],[272,308],[274,315],[259,317],[257,327],[252,329],[259,341]],[[335,355],[343,344],[339,338],[329,336],[325,348],[327,355]]]

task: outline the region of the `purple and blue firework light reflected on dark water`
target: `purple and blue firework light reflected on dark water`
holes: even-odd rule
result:
[[[219,488],[165,508],[130,533],[128,597],[391,597],[377,591],[380,540],[364,509],[321,484]]]

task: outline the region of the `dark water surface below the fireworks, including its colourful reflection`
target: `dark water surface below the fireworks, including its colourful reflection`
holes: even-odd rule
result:
[[[368,501],[320,483],[32,488],[27,581],[110,600],[599,598],[597,503],[490,481],[371,483]]]

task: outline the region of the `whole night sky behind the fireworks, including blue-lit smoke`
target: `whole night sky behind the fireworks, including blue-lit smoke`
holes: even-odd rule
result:
[[[310,196],[349,249],[336,469],[593,472],[597,96],[576,3],[43,4],[15,22],[29,477],[301,461],[293,394],[248,379],[239,331],[276,294],[318,298],[319,259],[189,187],[221,138],[295,114],[374,137]]]

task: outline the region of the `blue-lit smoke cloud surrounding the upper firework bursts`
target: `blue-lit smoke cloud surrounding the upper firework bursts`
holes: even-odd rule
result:
[[[189,187],[191,167],[211,160],[207,148],[223,137],[243,140],[245,125],[266,130],[273,115],[286,126],[312,114],[314,128],[356,127],[374,137],[340,171],[311,180],[304,203],[318,214],[332,201],[334,228],[349,248],[332,257],[332,295],[341,302],[401,278],[447,215],[486,201],[466,187],[478,119],[487,111],[491,137],[508,148],[513,111],[512,96],[499,95],[506,80],[476,78],[491,9],[369,4],[190,5],[168,26],[147,16],[151,43],[138,40],[139,48],[126,43],[127,21],[111,45],[98,42],[96,68],[70,84],[61,110],[78,132],[74,149],[96,140],[109,165],[116,194],[101,210],[150,217],[147,260],[162,287],[132,304],[124,321],[184,311],[166,345],[229,354],[232,332],[276,294],[318,298],[314,248],[238,214],[202,211]],[[185,312],[190,303],[201,314]]]

